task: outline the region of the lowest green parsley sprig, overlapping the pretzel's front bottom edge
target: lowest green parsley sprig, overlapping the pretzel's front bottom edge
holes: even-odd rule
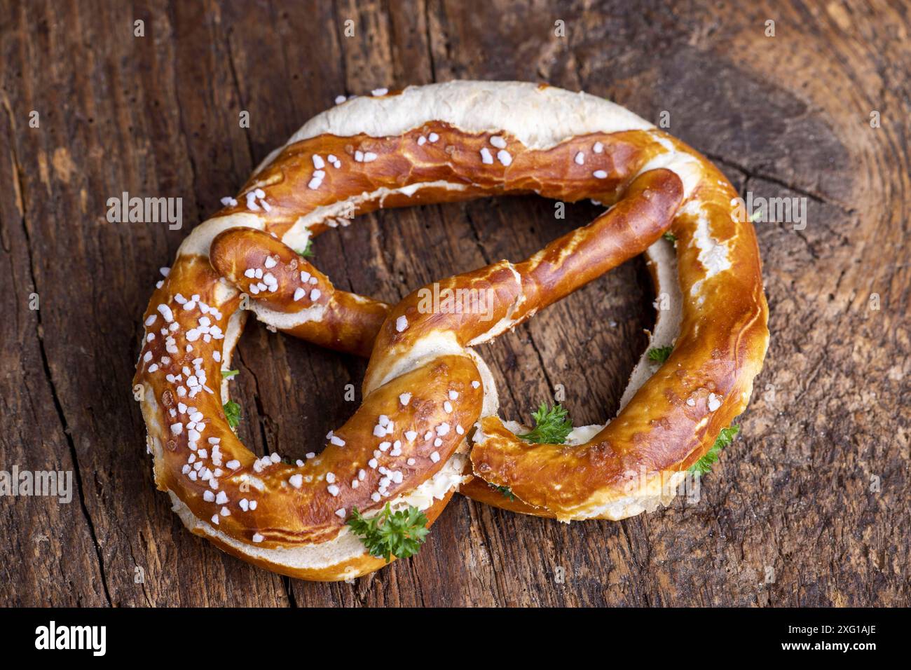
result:
[[[364,519],[357,508],[353,508],[348,526],[361,538],[363,546],[371,556],[384,558],[408,558],[421,550],[427,533],[427,517],[416,507],[393,512],[386,503],[383,511],[370,519]]]

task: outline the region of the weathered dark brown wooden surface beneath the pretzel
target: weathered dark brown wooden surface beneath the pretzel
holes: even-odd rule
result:
[[[0,2],[0,469],[73,469],[78,483],[68,505],[0,499],[0,603],[911,601],[906,5],[305,5]],[[158,269],[336,95],[455,77],[546,80],[656,122],[669,111],[670,132],[742,193],[807,200],[803,231],[757,224],[772,343],[743,437],[698,504],[562,525],[456,498],[417,558],[355,584],[252,568],[185,531],[152,484],[130,377]],[[182,197],[184,230],[108,223],[122,191]],[[568,211],[555,221],[534,198],[384,211],[320,238],[316,259],[343,288],[395,301],[520,258],[596,209]],[[562,384],[577,425],[611,416],[651,299],[628,263],[486,347],[505,415],[527,418]],[[349,415],[343,386],[364,368],[260,325],[238,363],[242,438],[290,454]]]

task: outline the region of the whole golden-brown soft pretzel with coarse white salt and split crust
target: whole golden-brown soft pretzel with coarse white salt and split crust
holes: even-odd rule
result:
[[[346,293],[294,251],[355,214],[527,192],[612,206],[521,263],[433,287],[484,296],[483,312],[428,304],[422,290],[394,306]],[[148,304],[134,383],[159,488],[224,551],[312,580],[403,555],[368,550],[353,517],[382,531],[409,510],[397,522],[423,525],[418,510],[434,521],[455,490],[561,521],[655,509],[746,407],[765,355],[759,254],[751,223],[732,216],[736,195],[679,140],[558,88],[458,81],[323,112],[189,234]],[[650,346],[673,345],[670,358],[643,355],[605,426],[560,445],[519,438],[472,347],[639,253],[659,293]],[[370,356],[363,404],[319,455],[257,458],[226,420],[221,370],[248,312]]]

